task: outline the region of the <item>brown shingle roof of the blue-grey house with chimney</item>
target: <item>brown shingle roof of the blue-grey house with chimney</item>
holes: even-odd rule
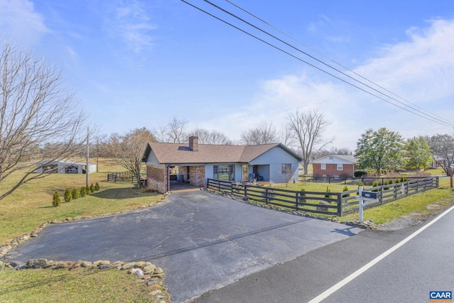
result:
[[[264,145],[209,145],[199,144],[199,150],[193,151],[189,145],[180,143],[155,143],[147,145],[143,160],[146,161],[150,151],[153,150],[158,162],[161,164],[189,164],[189,163],[248,163],[268,150],[279,146],[287,153],[301,161],[296,153],[289,150],[281,143]]]

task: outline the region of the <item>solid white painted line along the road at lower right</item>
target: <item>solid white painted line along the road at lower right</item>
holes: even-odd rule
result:
[[[438,215],[436,217],[436,219],[433,219],[432,221],[430,221],[428,224],[424,225],[423,227],[419,228],[417,231],[415,231],[414,233],[411,233],[410,236],[406,237],[404,240],[402,240],[401,242],[397,243],[395,246],[393,246],[392,248],[389,248],[389,250],[385,251],[384,253],[382,253],[381,255],[379,255],[377,258],[375,258],[374,260],[370,261],[369,263],[367,263],[366,265],[362,266],[362,268],[360,268],[359,270],[356,270],[355,272],[353,272],[351,275],[349,275],[348,277],[345,277],[345,279],[341,280],[341,282],[338,282],[336,285],[333,285],[332,287],[328,288],[328,290],[325,290],[324,292],[322,292],[321,294],[319,294],[317,297],[315,297],[314,299],[311,299],[311,301],[309,301],[308,303],[319,303],[321,302],[323,299],[326,299],[327,297],[331,296],[331,294],[333,294],[334,292],[340,290],[343,286],[347,285],[349,282],[351,282],[352,280],[354,280],[356,277],[360,276],[363,272],[365,272],[366,270],[368,270],[369,268],[372,268],[372,266],[374,266],[375,264],[379,263],[381,260],[383,260],[384,258],[386,258],[388,255],[390,255],[391,253],[393,253],[395,250],[397,250],[399,247],[403,246],[405,243],[407,243],[408,241],[410,241],[412,238],[416,237],[419,235],[419,233],[421,233],[422,231],[424,231],[426,228],[428,228],[429,226],[431,226],[432,224],[434,224],[436,221],[438,221],[439,219],[441,219],[443,216],[445,216],[445,214],[448,214],[448,212],[452,211],[454,209],[454,206],[451,206],[448,210],[444,211],[442,214]]]

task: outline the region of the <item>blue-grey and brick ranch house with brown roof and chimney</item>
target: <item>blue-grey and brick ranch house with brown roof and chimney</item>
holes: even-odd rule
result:
[[[280,183],[291,174],[290,180],[298,180],[302,161],[282,143],[209,145],[199,144],[197,136],[189,137],[189,145],[150,142],[142,160],[148,188],[162,193],[170,191],[170,180],[175,179],[196,187],[206,186],[207,179]]]

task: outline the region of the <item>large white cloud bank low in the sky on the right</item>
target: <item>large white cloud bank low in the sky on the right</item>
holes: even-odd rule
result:
[[[377,57],[355,72],[411,101],[414,107],[452,117],[453,33],[454,21],[435,20],[428,23],[428,28],[411,28],[409,41],[386,45]],[[332,121],[325,136],[335,136],[334,145],[339,148],[353,150],[367,128],[386,127],[399,131],[404,138],[452,132],[336,79],[321,79],[320,72],[309,68],[303,75],[285,75],[263,82],[262,89],[249,105],[226,114],[225,122],[212,123],[228,130],[228,136],[235,138],[234,134],[263,120],[281,126],[289,111],[297,108],[323,111],[326,119]]]

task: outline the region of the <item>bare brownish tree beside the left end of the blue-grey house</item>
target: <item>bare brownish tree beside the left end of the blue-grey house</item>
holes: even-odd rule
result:
[[[131,170],[140,182],[145,147],[148,142],[155,141],[155,136],[147,128],[135,128],[123,136],[111,135],[106,142],[106,148],[112,160],[126,170]]]

